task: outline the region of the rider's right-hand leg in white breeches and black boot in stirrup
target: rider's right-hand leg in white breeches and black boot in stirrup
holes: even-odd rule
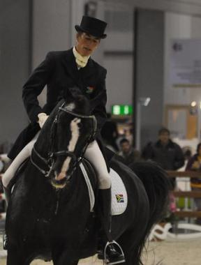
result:
[[[105,230],[105,235],[108,241],[112,241],[111,236],[111,178],[107,171],[107,165],[105,159],[103,158],[103,153],[101,152],[98,143],[96,141],[91,142],[87,147],[84,157],[87,158],[91,164],[94,166],[96,173],[98,174],[99,182],[99,197],[101,199],[101,214],[103,228]],[[109,264],[117,264],[119,262],[124,262],[124,255],[117,252],[112,244],[109,245]]]

